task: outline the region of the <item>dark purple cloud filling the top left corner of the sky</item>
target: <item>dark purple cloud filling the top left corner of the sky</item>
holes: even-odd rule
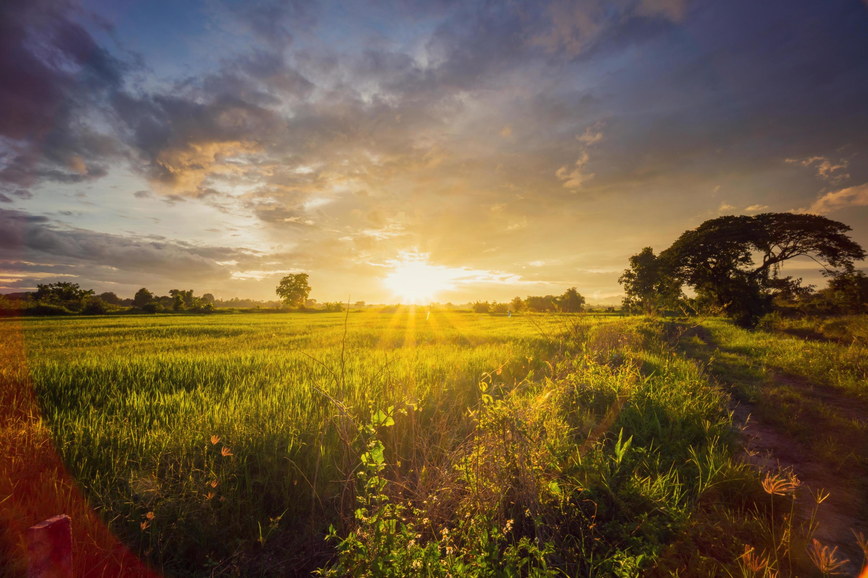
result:
[[[120,90],[127,66],[70,18],[70,4],[0,6],[0,184],[81,182],[119,151],[88,114]]]

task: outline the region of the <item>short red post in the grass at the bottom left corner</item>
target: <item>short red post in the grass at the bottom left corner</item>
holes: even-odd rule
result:
[[[28,578],[72,578],[72,520],[61,515],[27,529]]]

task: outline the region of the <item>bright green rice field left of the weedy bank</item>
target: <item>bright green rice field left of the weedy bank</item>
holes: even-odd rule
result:
[[[538,372],[563,347],[546,335],[561,325],[421,310],[28,319],[27,375],[4,378],[30,380],[63,463],[112,529],[172,568],[225,555],[227,533],[258,538],[276,516],[309,516],[315,475],[326,499],[330,396],[359,414],[415,403],[423,423],[460,414],[482,373]]]

